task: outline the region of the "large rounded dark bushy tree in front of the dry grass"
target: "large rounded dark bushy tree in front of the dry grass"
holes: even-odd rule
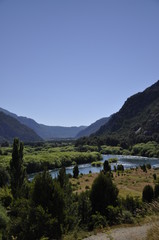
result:
[[[116,206],[118,189],[108,175],[100,173],[94,180],[90,193],[93,212],[106,214],[108,205]]]

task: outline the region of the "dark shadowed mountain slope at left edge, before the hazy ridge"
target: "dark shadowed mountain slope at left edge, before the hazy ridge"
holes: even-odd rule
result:
[[[15,137],[24,142],[42,140],[32,129],[21,124],[15,118],[0,112],[0,140],[12,141]]]

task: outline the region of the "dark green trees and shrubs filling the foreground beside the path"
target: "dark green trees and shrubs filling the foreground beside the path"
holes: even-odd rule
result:
[[[45,147],[51,151],[47,144]],[[57,179],[52,179],[45,170],[37,174],[32,182],[28,182],[24,158],[31,149],[28,146],[23,149],[23,144],[15,139],[9,155],[8,172],[0,168],[0,231],[3,240],[61,239],[64,236],[71,239],[72,232],[73,239],[78,239],[77,230],[91,231],[107,225],[132,223],[145,215],[147,210],[142,199],[119,197],[107,161],[90,190],[78,194],[73,192],[64,166]],[[67,149],[70,153],[72,146],[63,146],[61,149],[65,153]],[[61,153],[61,149],[56,147],[56,152],[59,150]],[[32,150],[35,151],[35,147]],[[124,169],[117,171],[123,175]],[[78,166],[75,165],[74,177],[77,180],[78,174]],[[159,196],[157,177],[153,177],[156,185],[154,189],[143,189],[143,201],[151,202]],[[147,198],[149,192],[152,193],[151,199]]]

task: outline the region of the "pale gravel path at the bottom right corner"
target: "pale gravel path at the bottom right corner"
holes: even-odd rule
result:
[[[149,223],[142,226],[116,228],[105,233],[98,233],[84,240],[144,240],[147,230],[151,227],[152,224]]]

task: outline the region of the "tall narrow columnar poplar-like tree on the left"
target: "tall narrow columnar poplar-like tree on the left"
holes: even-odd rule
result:
[[[21,195],[22,186],[25,179],[25,169],[23,166],[23,143],[15,138],[13,142],[12,159],[10,161],[11,190],[13,197]]]

